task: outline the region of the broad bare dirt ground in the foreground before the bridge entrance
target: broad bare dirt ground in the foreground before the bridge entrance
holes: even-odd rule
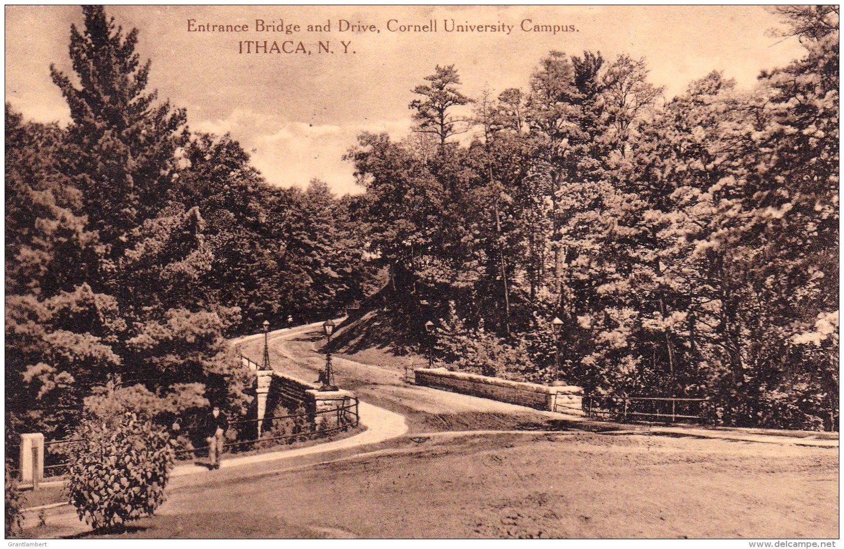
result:
[[[836,449],[441,433],[176,488],[116,537],[836,538],[838,504]]]

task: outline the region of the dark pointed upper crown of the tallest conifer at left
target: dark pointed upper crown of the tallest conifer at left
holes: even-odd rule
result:
[[[141,65],[135,52],[138,30],[124,34],[102,6],[82,9],[84,30],[70,30],[80,87],[51,66],[73,120],[74,149],[62,171],[82,191],[90,227],[113,260],[126,249],[127,232],[160,208],[186,114],[166,102],[155,105],[156,93],[145,93],[150,62]]]

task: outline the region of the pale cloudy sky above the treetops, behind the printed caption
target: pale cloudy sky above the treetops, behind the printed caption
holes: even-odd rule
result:
[[[107,12],[125,29],[138,28],[138,51],[153,63],[150,86],[160,98],[187,108],[192,129],[231,132],[274,185],[306,186],[320,177],[339,193],[360,191],[351,165],[341,159],[355,136],[407,134],[410,89],[437,64],[455,64],[463,93],[477,96],[484,87],[496,94],[527,89],[531,72],[550,50],[598,50],[606,59],[627,53],[647,58],[652,82],[665,86],[670,98],[713,69],[749,87],[760,70],[782,67],[802,51],[795,39],[768,35],[778,17],[757,6],[133,6]],[[256,19],[298,24],[300,31],[257,32]],[[376,30],[341,31],[341,19]],[[436,33],[390,30],[430,19],[437,22]],[[82,20],[78,7],[6,7],[6,100],[24,116],[69,120],[49,66],[72,72],[69,29]],[[446,32],[452,20],[512,30]],[[330,32],[307,31],[308,24],[329,22]],[[249,30],[189,30],[206,24],[247,24]],[[552,32],[534,31],[537,24]],[[574,25],[575,31],[554,33],[554,25]],[[246,53],[246,40],[275,40],[291,51],[302,42],[311,55]],[[318,53],[320,41],[334,53]]]

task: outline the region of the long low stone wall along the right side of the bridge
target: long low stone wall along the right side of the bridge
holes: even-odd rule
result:
[[[537,410],[582,415],[583,390],[574,385],[549,387],[478,374],[450,372],[445,368],[414,370],[416,385],[481,396],[494,401],[529,406]]]

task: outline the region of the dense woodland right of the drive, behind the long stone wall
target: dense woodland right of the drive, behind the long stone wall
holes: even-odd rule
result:
[[[439,151],[367,134],[347,157],[394,324],[440,319],[457,368],[549,380],[559,346],[593,394],[837,428],[838,11],[776,9],[806,56],[753,90],[713,72],[665,101],[642,59],[552,51],[475,102],[471,143],[446,142],[469,100],[436,67],[410,107]]]

